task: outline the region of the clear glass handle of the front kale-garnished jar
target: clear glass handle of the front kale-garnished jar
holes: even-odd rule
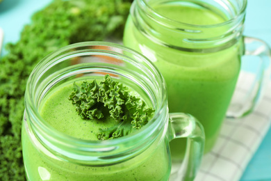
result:
[[[186,155],[181,168],[170,175],[173,180],[194,180],[204,153],[204,128],[198,120],[186,113],[170,113],[169,140],[187,138]]]

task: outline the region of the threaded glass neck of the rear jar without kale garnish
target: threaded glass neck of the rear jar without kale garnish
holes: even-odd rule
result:
[[[245,0],[136,0],[131,6],[131,17],[139,31],[160,45],[186,52],[217,52],[242,37],[246,6]],[[196,9],[220,21],[195,22],[195,18],[207,18],[196,14],[172,17],[173,13],[166,15],[165,8],[172,12],[177,8],[181,8],[179,12]]]

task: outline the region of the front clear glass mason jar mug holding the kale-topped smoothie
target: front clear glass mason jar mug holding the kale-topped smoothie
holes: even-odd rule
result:
[[[135,134],[106,141],[78,139],[40,115],[47,96],[63,85],[104,74],[133,88],[156,109],[154,118]],[[28,180],[193,180],[202,159],[202,125],[190,115],[169,114],[161,73],[147,58],[121,45],[82,42],[50,54],[28,79],[25,106],[22,149]],[[75,126],[69,129],[80,132]],[[187,159],[170,175],[169,142],[180,137],[190,143]]]

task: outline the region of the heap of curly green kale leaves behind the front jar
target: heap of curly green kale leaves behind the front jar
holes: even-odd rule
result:
[[[21,132],[26,81],[44,56],[74,42],[121,37],[132,0],[54,0],[0,60],[0,180],[26,180]]]

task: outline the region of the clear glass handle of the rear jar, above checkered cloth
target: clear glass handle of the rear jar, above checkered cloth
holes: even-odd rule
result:
[[[240,118],[254,110],[268,86],[271,52],[268,45],[256,38],[244,37],[245,54],[236,90],[227,117]]]

